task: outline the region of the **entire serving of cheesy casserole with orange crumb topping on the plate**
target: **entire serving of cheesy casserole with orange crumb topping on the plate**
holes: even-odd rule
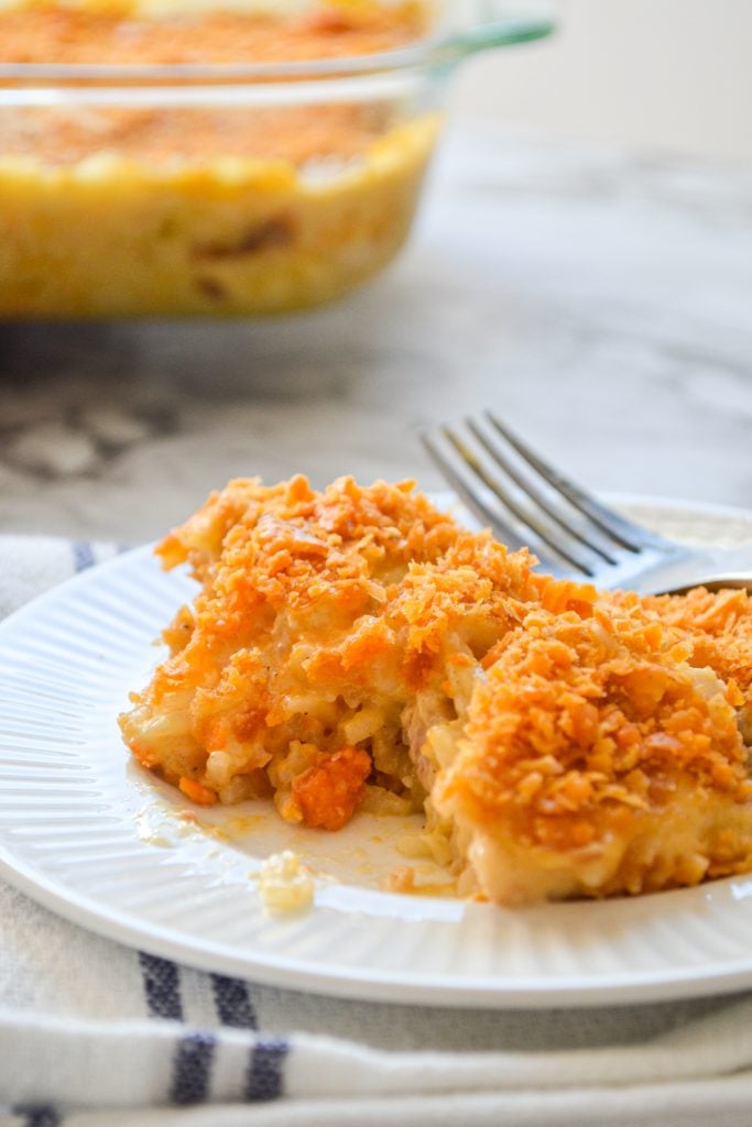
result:
[[[501,903],[752,867],[745,594],[599,594],[352,478],[231,481],[158,552],[203,586],[122,727],[194,801],[338,829],[427,792]]]

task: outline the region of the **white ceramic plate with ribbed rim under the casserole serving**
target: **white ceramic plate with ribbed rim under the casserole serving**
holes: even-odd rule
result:
[[[731,547],[752,514],[630,503],[672,535]],[[193,594],[148,550],[63,584],[0,627],[0,873],[112,939],[278,986],[435,1005],[598,1005],[752,986],[752,877],[637,899],[508,912],[379,889],[404,820],[336,835],[260,804],[201,813],[134,767],[115,718]],[[211,823],[211,824],[210,824]],[[311,911],[265,913],[281,848],[319,873]]]

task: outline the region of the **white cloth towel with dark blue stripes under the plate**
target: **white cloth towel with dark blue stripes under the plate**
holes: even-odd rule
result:
[[[0,538],[0,614],[118,548]],[[0,884],[0,1127],[750,1127],[752,995],[356,1003],[180,967]]]

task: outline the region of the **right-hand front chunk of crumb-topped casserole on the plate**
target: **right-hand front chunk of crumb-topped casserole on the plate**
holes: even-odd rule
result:
[[[497,647],[433,797],[496,849],[498,864],[506,857],[507,898],[695,884],[720,863],[711,799],[745,809],[745,840],[733,858],[724,851],[723,869],[749,866],[747,751],[727,686],[688,665],[688,649],[638,606],[586,619],[533,611]],[[674,814],[697,826],[689,859],[674,849]],[[520,884],[508,870],[521,846]],[[492,886],[487,873],[483,890]]]

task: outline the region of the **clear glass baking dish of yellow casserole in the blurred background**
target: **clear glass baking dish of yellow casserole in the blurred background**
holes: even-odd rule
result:
[[[457,65],[550,30],[530,5],[445,0],[369,54],[0,62],[0,318],[249,316],[347,293],[409,231]]]

